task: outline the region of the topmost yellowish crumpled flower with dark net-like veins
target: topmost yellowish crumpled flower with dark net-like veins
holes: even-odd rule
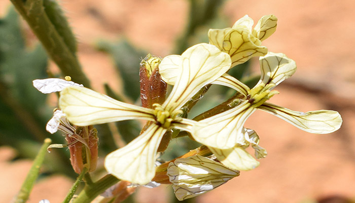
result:
[[[261,41],[276,30],[277,18],[267,15],[259,20],[254,29],[253,24],[253,19],[245,15],[231,28],[209,29],[209,43],[231,56],[232,67],[253,56],[264,56],[267,48],[261,46]]]

